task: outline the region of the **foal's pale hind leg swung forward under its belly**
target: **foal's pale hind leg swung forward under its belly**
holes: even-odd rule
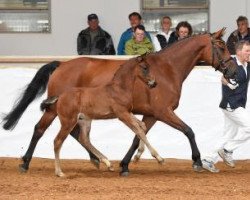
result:
[[[84,119],[84,115],[81,114],[81,117],[78,119],[78,124],[80,126],[80,136],[79,141],[87,149],[87,151],[93,153],[101,162],[103,162],[110,171],[114,171],[114,168],[110,161],[104,156],[100,151],[98,151],[89,140],[89,132],[91,128],[91,120]]]

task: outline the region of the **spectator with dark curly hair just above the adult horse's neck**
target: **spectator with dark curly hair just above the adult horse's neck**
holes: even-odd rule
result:
[[[175,31],[171,33],[169,38],[169,44],[172,44],[178,40],[191,36],[193,33],[192,26],[187,21],[179,22],[175,28]]]

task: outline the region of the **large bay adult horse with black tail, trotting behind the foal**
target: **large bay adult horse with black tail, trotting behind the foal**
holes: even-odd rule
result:
[[[159,67],[159,73],[156,75],[159,85],[154,92],[149,92],[143,84],[135,83],[133,113],[144,115],[143,122],[146,124],[147,131],[157,120],[160,120],[183,132],[191,145],[194,170],[200,170],[202,167],[194,133],[176,116],[174,110],[179,104],[183,81],[197,62],[205,61],[208,65],[221,71],[227,78],[234,78],[236,65],[222,40],[224,30],[183,39],[160,52],[147,55],[149,65]],[[3,128],[14,128],[25,109],[45,91],[47,84],[48,98],[59,96],[71,87],[103,85],[112,79],[119,65],[124,62],[78,58],[62,63],[55,61],[41,67],[12,111],[4,117]],[[50,76],[50,74],[52,75]],[[20,170],[28,170],[37,142],[55,117],[55,110],[47,110],[36,124],[29,148],[22,158],[23,164],[20,165]],[[71,132],[71,135],[78,139],[77,128]],[[135,137],[132,146],[121,162],[123,175],[128,174],[128,164],[138,145],[139,139]],[[95,162],[99,162],[91,153],[90,157]]]

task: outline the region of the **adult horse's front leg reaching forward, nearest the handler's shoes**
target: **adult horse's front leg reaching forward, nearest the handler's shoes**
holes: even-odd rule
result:
[[[195,141],[195,135],[193,130],[185,124],[175,113],[173,110],[168,109],[164,114],[162,112],[159,112],[159,116],[157,116],[158,119],[165,122],[166,124],[172,126],[173,128],[181,131],[184,133],[184,135],[187,136],[189,143],[191,145],[192,149],[192,160],[193,160],[193,169],[196,172],[203,171],[202,169],[202,162],[200,157],[200,151],[198,149],[198,146]]]

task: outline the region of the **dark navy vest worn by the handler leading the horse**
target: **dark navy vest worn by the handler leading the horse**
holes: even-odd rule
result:
[[[245,108],[247,102],[247,90],[250,77],[250,65],[247,66],[247,77],[243,66],[237,68],[237,83],[239,86],[235,90],[231,90],[228,86],[222,85],[222,100],[220,107],[226,109],[228,104],[230,108]]]

